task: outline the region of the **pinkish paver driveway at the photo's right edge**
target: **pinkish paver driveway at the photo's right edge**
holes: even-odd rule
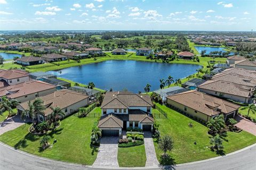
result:
[[[256,135],[256,123],[247,120],[244,117],[237,115],[235,120],[238,122],[235,124],[238,128],[245,130],[246,132]]]

